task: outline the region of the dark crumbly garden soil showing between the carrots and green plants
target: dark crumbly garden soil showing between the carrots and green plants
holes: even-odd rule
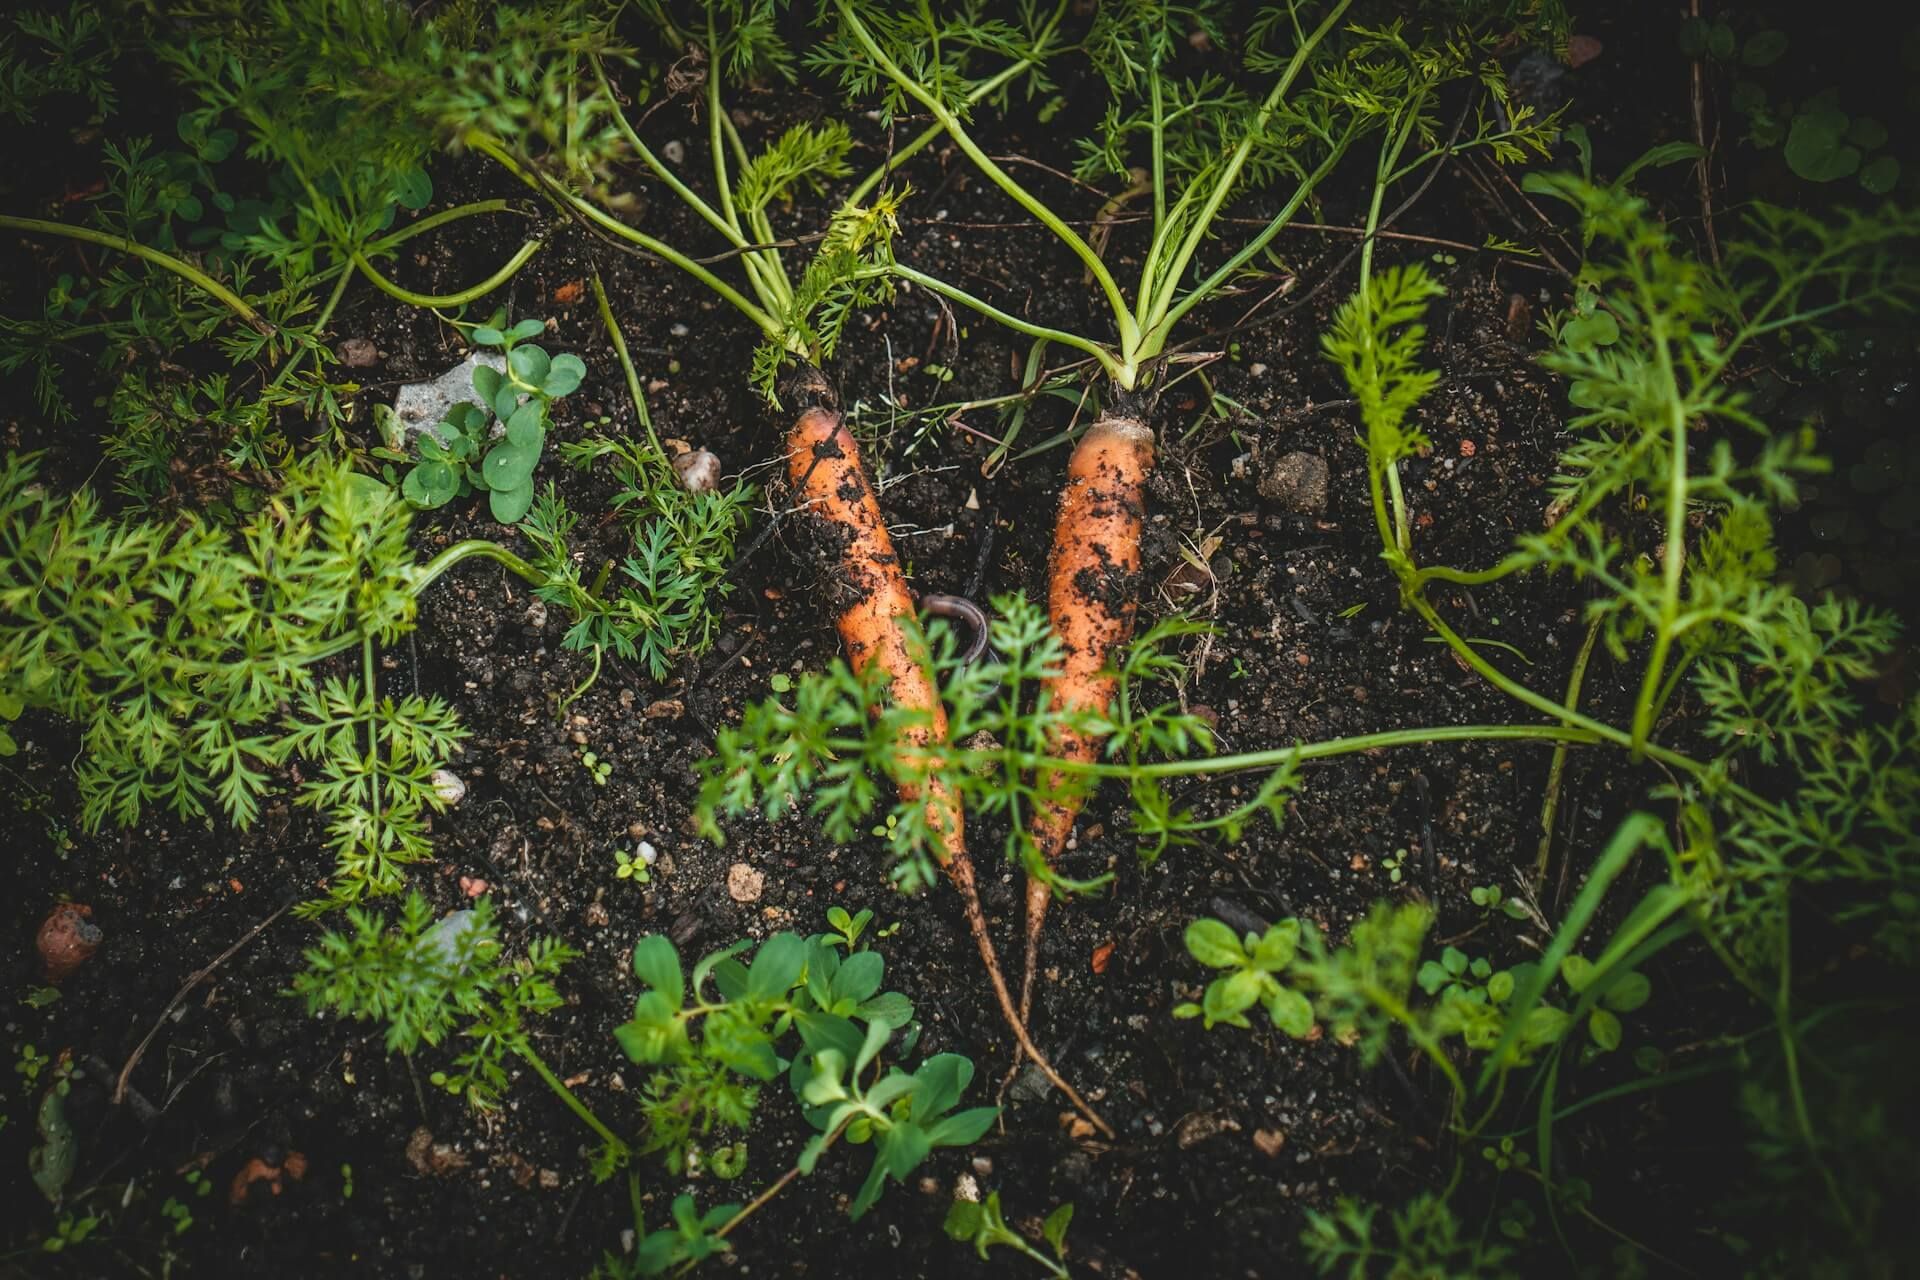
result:
[[[1613,40],[1613,33],[1601,35]],[[1634,150],[1642,138],[1680,127],[1684,96],[1680,79],[1665,79],[1670,59],[1659,59],[1659,127],[1630,119],[1636,107],[1619,104],[1634,104],[1634,92],[1607,81],[1632,79],[1622,65],[1626,52],[1611,67],[1594,67],[1599,106],[1582,109],[1632,130],[1626,150]],[[753,102],[753,130],[822,106]],[[653,127],[664,129],[664,119]],[[689,138],[689,152],[697,154],[695,142]],[[1021,138],[996,146],[1016,150]],[[1008,226],[998,194],[952,159],[952,167],[933,157],[912,169],[922,194],[912,201],[900,257],[1039,320],[1079,322],[1091,299],[1077,267],[1031,226]],[[436,186],[447,203],[516,196],[470,159],[449,161]],[[1319,221],[1352,221],[1363,196],[1363,175],[1336,182]],[[804,230],[804,213],[795,228]],[[657,234],[693,230],[680,226],[666,203],[645,217]],[[1402,230],[1469,244],[1519,234],[1511,209],[1457,171],[1432,184]],[[622,255],[578,228],[555,232],[501,301],[515,317],[551,317],[549,349],[576,351],[589,365],[580,393],[559,405],[559,438],[636,430],[591,296],[553,301],[593,263],[607,276],[643,376],[659,380],[651,403],[660,434],[712,449],[730,472],[760,482],[776,476],[780,426],[743,376],[753,334],[670,269]],[[409,246],[417,253],[396,273],[409,288],[459,288],[497,265],[511,234],[459,223]],[[1365,459],[1354,443],[1357,418],[1319,355],[1319,334],[1344,284],[1315,286],[1350,248],[1352,240],[1336,234],[1290,232],[1281,242],[1298,286],[1236,328],[1233,357],[1206,370],[1213,391],[1240,413],[1208,416],[1196,378],[1179,382],[1152,409],[1162,457],[1144,547],[1144,616],[1179,604],[1217,626],[1213,637],[1188,647],[1185,687],[1162,697],[1204,710],[1231,750],[1523,718],[1398,608],[1379,558]],[[1123,228],[1110,255],[1125,269],[1133,253]],[[1544,482],[1567,409],[1561,388],[1532,367],[1538,334],[1530,319],[1561,297],[1563,282],[1511,259],[1446,253],[1407,242],[1382,249],[1384,261],[1427,259],[1448,284],[1430,317],[1428,347],[1444,380],[1421,411],[1434,449],[1407,468],[1407,493],[1423,560],[1486,564],[1517,533],[1542,524]],[[1338,278],[1350,280],[1350,271]],[[1254,284],[1223,301],[1210,322],[1233,324],[1277,284]],[[864,403],[862,422],[879,432],[881,501],[916,589],[1037,597],[1044,593],[1066,451],[987,476],[981,462],[989,445],[972,434],[945,432],[908,455],[910,436],[885,430],[883,393],[918,405],[935,395],[1008,390],[1025,340],[966,317],[958,330],[933,299],[902,292],[851,326],[831,374],[841,397]],[[372,290],[355,290],[334,332],[380,349],[380,365],[367,370],[372,397],[434,376],[463,353],[457,334],[430,313],[399,309]],[[1229,338],[1196,345],[1225,351]],[[668,372],[672,361],[680,372]],[[935,382],[929,365],[952,368],[954,380]],[[601,415],[611,415],[611,428],[591,426]],[[968,424],[996,430],[989,413],[970,415]],[[1064,426],[1058,407],[1041,407],[1023,441]],[[12,422],[8,436],[12,447],[40,443],[25,422]],[[1261,474],[1290,453],[1325,461],[1325,510],[1261,497]],[[56,464],[67,476],[88,468],[84,455]],[[559,482],[584,512],[589,555],[616,551],[620,526],[597,516],[611,491],[603,478],[564,470],[551,457],[541,478]],[[766,509],[780,510],[778,486]],[[419,520],[422,557],[461,537],[515,541],[484,516],[484,503],[465,503]],[[755,532],[774,518],[758,516]],[[413,883],[436,910],[449,910],[465,900],[463,879],[484,879],[503,908],[509,944],[555,935],[582,952],[563,981],[566,1007],[540,1021],[540,1050],[628,1132],[637,1123],[630,1094],[643,1075],[611,1032],[632,1011],[637,983],[630,954],[647,933],[664,931],[693,956],[741,936],[818,931],[835,904],[872,908],[876,925],[897,925],[877,946],[889,986],[914,1000],[925,1025],[918,1052],[972,1055],[979,1071],[970,1102],[991,1102],[1012,1063],[1010,1036],[958,902],[945,889],[922,898],[893,894],[883,841],[835,846],[801,814],[735,821],[724,848],[693,835],[695,768],[714,731],[768,697],[770,677],[816,670],[837,652],[818,570],[801,555],[803,545],[783,526],[737,564],[726,631],[701,662],[666,681],[612,662],[564,714],[557,708],[588,679],[589,660],[561,647],[566,620],[559,610],[532,601],[516,578],[492,564],[463,566],[428,591],[419,629],[382,654],[386,691],[445,697],[472,729],[453,764],[468,785],[467,798],[434,821],[436,860],[417,867]],[[1565,685],[1584,635],[1576,583],[1505,581],[1442,595],[1440,603],[1463,633],[1500,641],[1507,666],[1530,685]],[[1630,689],[1601,658],[1584,700],[1596,714],[1619,718]],[[169,1004],[190,975],[259,921],[315,892],[330,858],[311,814],[282,802],[248,833],[152,816],[136,829],[88,837],[71,818],[71,733],[38,716],[17,729],[31,748],[8,762],[15,816],[0,860],[4,921],[15,938],[6,969],[10,1055],[12,1046],[29,1042],[71,1055],[69,1117],[81,1138],[71,1186],[96,1188],[86,1201],[94,1209],[123,1199],[144,1205],[119,1219],[144,1226],[109,1224],[65,1268],[60,1257],[29,1251],[0,1261],[0,1272],[159,1274],[156,1259],[169,1249],[179,1274],[205,1276],[582,1274],[603,1249],[620,1247],[630,1224],[622,1182],[591,1182],[586,1132],[536,1079],[522,1075],[501,1111],[476,1115],[428,1084],[436,1054],[419,1061],[390,1055],[376,1029],[309,1019],[286,998],[313,927],[282,915]],[[605,785],[580,762],[588,748],[612,766]],[[1062,869],[1114,871],[1117,881],[1104,896],[1052,912],[1035,1036],[1119,1138],[1077,1136],[1060,1096],[1021,1077],[1002,1100],[1002,1128],[968,1151],[935,1155],[860,1222],[849,1222],[841,1207],[866,1173],[866,1153],[835,1151],[735,1236],[733,1267],[741,1274],[1000,1274],[998,1257],[981,1265],[939,1230],[956,1180],[973,1176],[983,1190],[1000,1190],[1016,1222],[1073,1201],[1077,1272],[1300,1270],[1308,1209],[1327,1209],[1340,1196],[1400,1203],[1448,1176],[1453,1151],[1444,1132],[1444,1086],[1411,1055],[1369,1071],[1331,1038],[1294,1042],[1271,1029],[1204,1034],[1198,1023],[1173,1021],[1173,1004],[1198,998],[1204,983],[1181,931],[1202,913],[1236,925],[1300,915],[1344,936],[1375,900],[1417,898],[1438,910],[1436,938],[1519,960],[1526,938],[1538,935],[1473,906],[1469,890],[1511,890],[1517,873],[1530,871],[1548,762],[1544,747],[1500,743],[1348,756],[1306,773],[1284,829],[1254,827],[1236,846],[1175,848],[1152,865],[1135,856],[1125,793],[1102,791]],[[1572,754],[1540,902],[1548,917],[1578,885],[1586,856],[1655,781],[1617,754]],[[1183,798],[1217,808],[1248,785],[1200,783]],[[634,839],[660,850],[647,887],[612,875],[614,844]],[[979,823],[975,848],[996,846],[998,833]],[[728,869],[737,862],[764,873],[755,902],[728,892]],[[1018,961],[1020,877],[987,864],[981,892],[1002,954]],[[31,938],[60,898],[90,904],[104,942],[61,984],[58,1002],[29,1007],[17,998],[42,984]],[[157,1032],[129,1075],[134,1102],[113,1105],[113,1080],[156,1021]],[[703,1205],[749,1197],[799,1153],[808,1130],[785,1086],[770,1086],[764,1098],[749,1136],[747,1176],[733,1186],[699,1180],[691,1190]],[[27,1242],[44,1234],[46,1222],[44,1201],[25,1180],[33,1146],[25,1088],[8,1096],[6,1121],[0,1186],[8,1203],[33,1207],[8,1215],[8,1247],[31,1249]],[[1657,1176],[1632,1176],[1644,1159],[1636,1134],[1655,1128],[1649,1105],[1626,1125],[1569,1128],[1563,1140],[1596,1184],[1611,1169],[1626,1184],[1620,1196],[1636,1205],[1620,1215],[1634,1219],[1644,1209],[1638,1221],[1665,1242],[1684,1232],[1699,1205],[1661,1209],[1670,1188]],[[451,1159],[442,1159],[442,1169],[430,1157],[409,1159],[419,1130],[445,1144]],[[294,1151],[305,1159],[303,1178],[286,1178],[273,1194],[257,1184],[242,1203],[230,1203],[234,1176],[248,1161],[280,1165]],[[194,1199],[186,1182],[196,1169],[213,1184],[205,1199]],[[674,1194],[687,1190],[657,1163],[643,1165],[643,1186],[649,1222],[662,1221]],[[194,1224],[179,1236],[167,1236],[169,1224],[157,1217],[167,1196],[194,1211]],[[708,1263],[708,1270],[728,1268]]]

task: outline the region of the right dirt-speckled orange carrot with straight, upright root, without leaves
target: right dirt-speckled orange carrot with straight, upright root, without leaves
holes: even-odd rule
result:
[[[1041,687],[1050,710],[1106,714],[1114,700],[1110,672],[1116,651],[1133,637],[1139,601],[1140,530],[1146,520],[1146,476],[1154,470],[1154,432],[1131,411],[1102,413],[1068,459],[1060,518],[1046,572],[1046,610],[1066,649],[1060,672]],[[1100,739],[1062,729],[1054,754],[1092,760]],[[1064,791],[1062,791],[1064,789]],[[1087,800],[1064,771],[1052,773],[1052,802],[1033,814],[1027,831],[1046,865],[1060,860],[1073,819]],[[1020,983],[1020,1017],[1033,1007],[1033,971],[1052,892],[1039,875],[1027,877],[1027,975]]]

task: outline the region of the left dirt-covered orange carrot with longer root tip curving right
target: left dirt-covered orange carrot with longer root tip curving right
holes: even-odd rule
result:
[[[900,558],[893,553],[893,539],[879,514],[874,486],[868,484],[866,468],[860,464],[860,447],[841,422],[841,415],[831,409],[831,390],[826,378],[814,370],[806,370],[803,378],[803,393],[816,403],[801,413],[787,432],[787,470],[799,505],[814,520],[835,526],[831,545],[839,557],[841,589],[833,599],[833,608],[837,610],[835,626],[841,643],[847,647],[847,660],[856,672],[877,662],[887,674],[895,702],[927,712],[927,723],[914,729],[902,747],[908,750],[931,747],[947,739],[947,708],[941,704],[933,674],[922,660],[924,652],[916,652],[916,645],[910,643],[906,622],[914,618],[914,595],[906,587],[906,574],[900,572]],[[900,789],[900,794],[908,802],[922,798],[906,787]],[[1046,1079],[1100,1132],[1112,1138],[1114,1130],[1071,1084],[1060,1079],[1060,1073],[1027,1036],[1025,1021],[1014,1011],[1014,998],[987,931],[987,913],[979,904],[979,885],[973,875],[973,860],[966,850],[966,818],[958,796],[941,779],[931,779],[924,800],[927,827],[935,833],[933,856],[947,871],[947,879],[960,890],[968,929],[973,933],[1006,1025]]]

